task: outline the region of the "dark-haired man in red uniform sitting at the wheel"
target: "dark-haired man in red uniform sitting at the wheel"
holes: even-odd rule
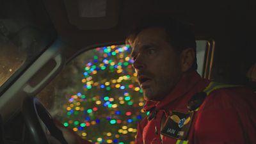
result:
[[[136,143],[256,143],[255,93],[242,86],[209,86],[196,73],[195,36],[188,27],[149,19],[127,42],[144,109],[150,111],[138,124]]]

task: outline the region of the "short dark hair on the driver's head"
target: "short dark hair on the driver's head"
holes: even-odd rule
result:
[[[182,52],[184,49],[193,48],[195,51],[195,61],[191,66],[191,69],[196,70],[196,42],[195,34],[188,24],[184,24],[178,20],[172,19],[170,17],[145,17],[141,20],[139,26],[130,33],[126,38],[127,44],[133,44],[136,36],[147,28],[163,28],[168,36],[173,49],[177,52]]]

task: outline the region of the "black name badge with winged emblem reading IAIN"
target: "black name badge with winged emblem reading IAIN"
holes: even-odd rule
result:
[[[168,117],[164,124],[161,134],[179,140],[186,140],[193,115],[193,111],[189,113],[180,113],[178,111],[172,111],[171,115]]]

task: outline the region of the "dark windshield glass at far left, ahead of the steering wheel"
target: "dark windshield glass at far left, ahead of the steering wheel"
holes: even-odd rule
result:
[[[43,5],[32,8],[26,1],[1,1],[0,92],[56,38]]]

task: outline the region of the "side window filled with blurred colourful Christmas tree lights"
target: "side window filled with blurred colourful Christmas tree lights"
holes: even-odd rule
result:
[[[77,56],[39,93],[52,116],[94,143],[133,143],[146,115],[129,45],[97,47]]]

